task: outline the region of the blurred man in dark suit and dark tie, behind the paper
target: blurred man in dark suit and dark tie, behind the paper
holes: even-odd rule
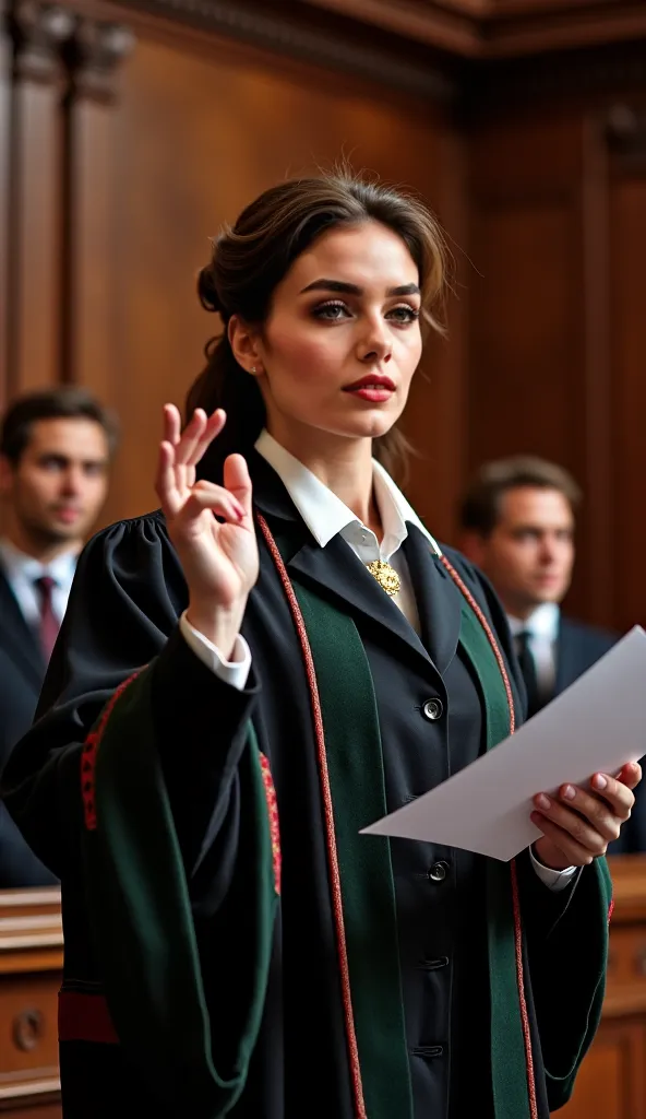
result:
[[[460,546],[506,610],[532,716],[612,647],[617,634],[563,617],[574,563],[579,487],[561,467],[530,455],[490,462],[460,504]],[[646,850],[646,797],[612,854]]]

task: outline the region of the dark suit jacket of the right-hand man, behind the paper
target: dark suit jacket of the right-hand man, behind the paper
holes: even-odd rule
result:
[[[600,660],[617,640],[615,633],[561,615],[557,642],[554,695],[564,692],[570,684],[573,684],[597,660]],[[637,787],[635,798],[635,808],[630,819],[624,825],[619,839],[608,847],[610,855],[646,852],[646,787],[644,782]]]

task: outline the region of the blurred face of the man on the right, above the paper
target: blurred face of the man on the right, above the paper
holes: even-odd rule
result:
[[[560,602],[572,577],[574,518],[555,489],[520,486],[501,498],[498,521],[468,553],[500,594],[505,610],[526,617]]]

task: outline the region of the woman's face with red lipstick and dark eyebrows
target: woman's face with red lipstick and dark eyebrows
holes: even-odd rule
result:
[[[294,262],[247,365],[279,442],[392,426],[421,355],[418,285],[405,243],[377,222],[332,229]]]

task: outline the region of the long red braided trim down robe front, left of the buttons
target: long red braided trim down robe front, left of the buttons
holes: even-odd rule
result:
[[[325,834],[326,834],[326,846],[327,846],[327,863],[330,866],[330,880],[332,885],[332,906],[334,910],[334,920],[336,924],[336,948],[339,952],[339,967],[341,971],[341,990],[343,996],[343,1010],[345,1017],[345,1037],[348,1043],[348,1051],[350,1056],[350,1072],[352,1078],[352,1088],[354,1092],[354,1106],[357,1109],[357,1119],[367,1119],[365,1103],[363,1100],[363,1084],[361,1082],[361,1068],[359,1064],[359,1046],[357,1045],[357,1033],[354,1029],[354,1016],[352,1013],[352,994],[350,990],[350,969],[348,966],[348,951],[345,948],[345,924],[343,920],[343,903],[341,896],[341,875],[339,873],[339,859],[336,857],[336,840],[334,837],[334,812],[332,808],[332,793],[330,790],[330,775],[327,772],[327,758],[325,753],[325,734],[323,730],[323,716],[321,714],[321,700],[319,698],[319,687],[316,685],[316,674],[314,671],[314,660],[312,658],[312,650],[310,648],[310,641],[307,640],[307,631],[305,630],[305,622],[303,621],[303,614],[301,613],[301,608],[296,595],[294,594],[294,587],[289,581],[289,576],[283,563],[283,557],[276,547],[276,542],[272,536],[272,530],[265,520],[265,518],[258,514],[258,524],[269,553],[276,566],[276,571],[281,576],[281,582],[283,583],[283,590],[289,603],[289,609],[292,611],[292,617],[294,619],[294,624],[296,627],[296,632],[301,641],[301,651],[303,653],[303,660],[305,662],[305,671],[307,675],[307,684],[310,686],[310,700],[312,704],[312,716],[314,721],[314,735],[316,739],[316,751],[319,758],[319,774],[321,780],[321,792],[323,797],[323,812],[325,816]]]

